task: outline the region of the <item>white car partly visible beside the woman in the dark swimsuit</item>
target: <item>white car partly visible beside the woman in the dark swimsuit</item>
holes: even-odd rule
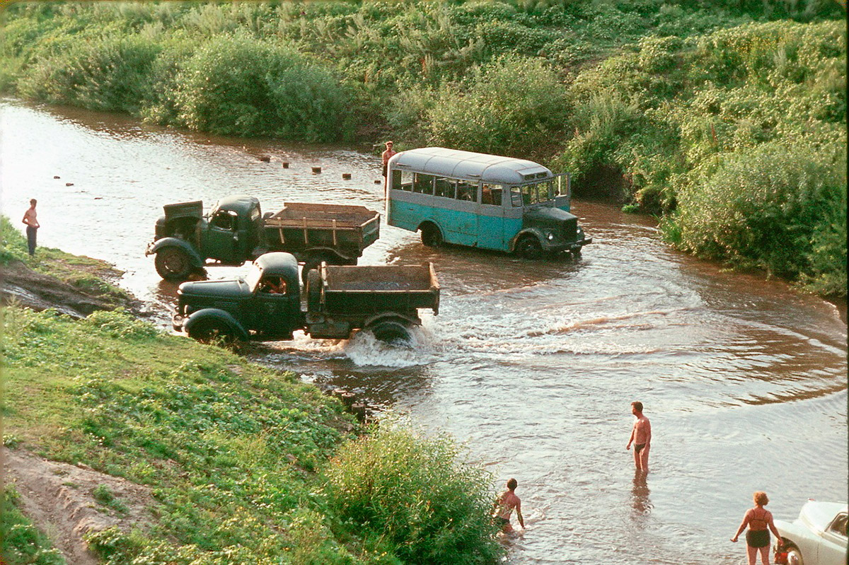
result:
[[[775,562],[784,565],[846,565],[846,504],[812,499],[793,522],[775,520],[784,546]]]

